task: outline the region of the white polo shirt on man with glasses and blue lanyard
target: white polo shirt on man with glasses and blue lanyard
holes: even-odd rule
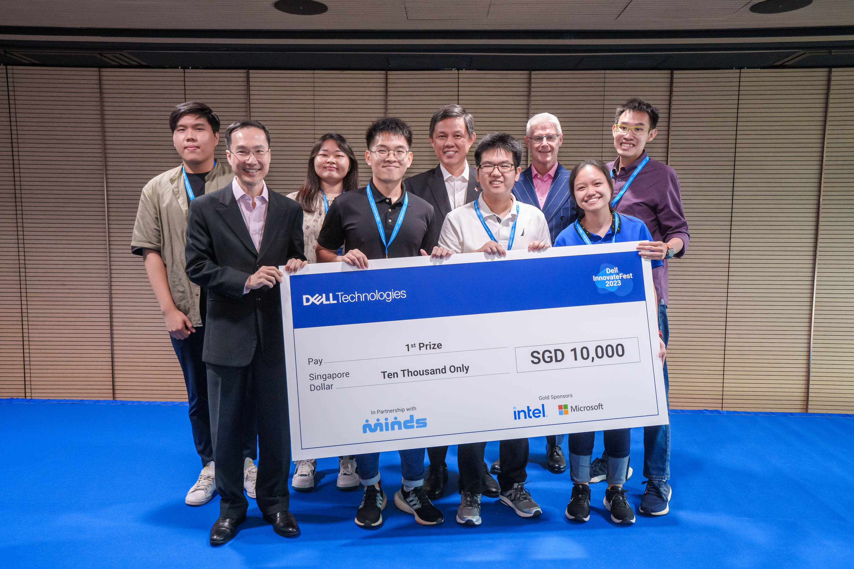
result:
[[[552,239],[548,234],[546,216],[537,207],[522,203],[512,195],[511,198],[510,213],[503,219],[488,208],[483,201],[483,195],[477,198],[483,221],[492,231],[495,239],[503,247],[507,247],[513,222],[516,221],[518,205],[519,218],[516,224],[516,236],[513,238],[513,250],[527,249],[531,241],[546,241],[551,245]],[[486,229],[483,229],[480,218],[477,217],[475,203],[472,201],[447,214],[445,223],[442,224],[442,233],[439,235],[439,247],[450,249],[453,253],[473,253],[491,241]]]

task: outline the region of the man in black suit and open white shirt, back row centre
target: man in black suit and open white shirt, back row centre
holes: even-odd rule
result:
[[[466,160],[475,138],[475,119],[459,105],[440,107],[430,118],[430,146],[439,165],[409,178],[407,189],[433,206],[440,230],[451,210],[477,200],[480,192],[477,173]],[[431,500],[437,500],[445,493],[447,484],[447,446],[427,449],[427,456],[430,456],[430,469],[424,479],[424,492]],[[487,485],[484,494],[498,497],[498,482],[489,476],[485,465],[483,475]]]

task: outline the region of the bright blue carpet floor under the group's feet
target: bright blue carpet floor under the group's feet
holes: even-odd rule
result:
[[[607,519],[604,483],[593,486],[587,524],[564,518],[570,477],[545,469],[543,438],[531,439],[528,470],[541,518],[484,499],[477,528],[454,522],[459,495],[448,491],[437,502],[443,525],[419,526],[389,500],[385,525],[362,530],[353,522],[361,493],[336,490],[337,460],[323,459],[315,491],[292,494],[301,537],[275,535],[250,500],[242,531],[213,549],[219,498],[184,504],[201,467],[186,414],[179,405],[0,401],[0,566],[854,566],[851,417],[674,413],[671,513],[628,527]],[[489,444],[487,461],[497,454]],[[626,485],[635,511],[642,460],[635,429]],[[455,456],[448,463],[455,471]],[[397,453],[383,453],[382,476],[391,497]],[[452,472],[449,488],[456,483]]]

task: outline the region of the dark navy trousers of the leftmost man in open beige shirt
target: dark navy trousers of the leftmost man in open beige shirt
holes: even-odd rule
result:
[[[211,420],[208,409],[208,369],[202,361],[202,346],[205,343],[205,327],[199,326],[196,332],[186,340],[175,340],[172,347],[184,373],[187,386],[187,403],[190,405],[190,428],[196,452],[202,459],[202,467],[213,461],[213,442],[211,440]],[[243,458],[257,458],[258,426],[255,423],[254,404],[247,399],[243,422]]]

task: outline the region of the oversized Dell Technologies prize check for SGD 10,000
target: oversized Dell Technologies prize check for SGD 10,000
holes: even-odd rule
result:
[[[652,269],[635,245],[286,276],[293,458],[667,423]]]

